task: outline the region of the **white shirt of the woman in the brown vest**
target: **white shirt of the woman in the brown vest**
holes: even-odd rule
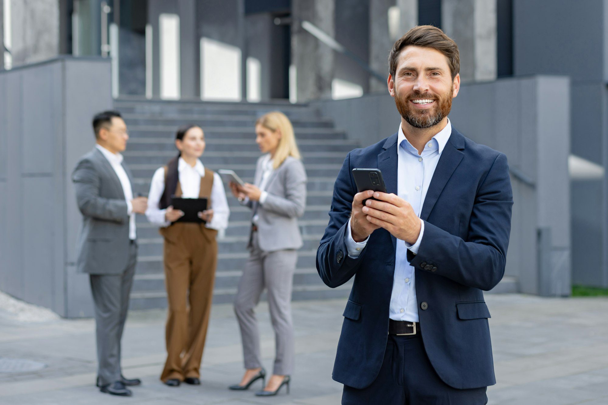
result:
[[[201,191],[201,178],[205,177],[205,166],[200,160],[196,160],[194,167],[188,165],[183,159],[178,160],[179,185],[182,188],[182,198],[198,199]],[[151,223],[159,226],[169,226],[170,222],[165,220],[167,209],[160,209],[162,192],[165,190],[165,169],[159,168],[154,172],[150,193],[148,193],[148,209],[146,217]],[[226,191],[222,179],[217,173],[213,173],[213,186],[211,188],[211,206],[213,218],[206,223],[206,227],[214,230],[224,230],[228,227],[230,209],[226,200]]]

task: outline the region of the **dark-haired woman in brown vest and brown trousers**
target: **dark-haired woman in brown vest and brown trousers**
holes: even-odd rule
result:
[[[161,380],[171,387],[200,384],[213,282],[218,257],[216,235],[228,225],[230,214],[219,175],[205,168],[199,157],[205,135],[199,126],[179,128],[179,154],[152,178],[146,216],[164,237],[165,286],[168,319],[165,329],[167,362]],[[173,209],[171,196],[207,198],[209,207],[198,216],[206,223],[177,222],[184,215]]]

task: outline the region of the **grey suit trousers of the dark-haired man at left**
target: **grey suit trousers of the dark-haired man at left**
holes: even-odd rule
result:
[[[137,243],[131,243],[129,261],[122,273],[90,275],[97,329],[97,375],[101,386],[120,381],[120,339],[136,263]]]

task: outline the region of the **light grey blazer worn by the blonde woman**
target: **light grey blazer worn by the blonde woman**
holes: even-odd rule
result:
[[[263,173],[261,156],[255,169],[255,184],[260,185]],[[289,156],[272,171],[266,188],[264,204],[248,202],[252,218],[258,215],[260,249],[271,252],[302,247],[298,218],[306,208],[306,171],[302,161]],[[249,238],[251,241],[251,238]]]

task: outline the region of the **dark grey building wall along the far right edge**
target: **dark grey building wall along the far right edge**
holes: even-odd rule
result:
[[[572,154],[608,168],[608,7],[513,1],[514,75],[568,75]],[[542,16],[542,18],[539,18]],[[572,180],[575,284],[608,287],[608,178]]]

